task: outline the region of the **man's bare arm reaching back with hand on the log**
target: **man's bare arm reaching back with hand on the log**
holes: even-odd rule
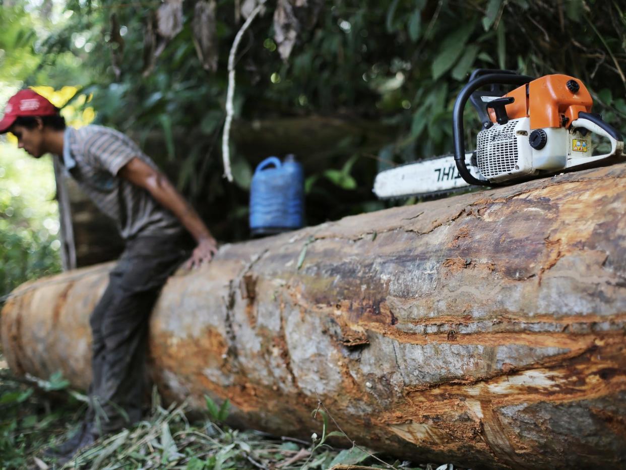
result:
[[[213,255],[217,253],[215,238],[208,231],[202,219],[198,217],[196,211],[193,210],[193,207],[173,187],[162,172],[153,169],[146,162],[135,157],[121,167],[118,175],[150,192],[156,201],[178,217],[178,220],[195,238],[198,246],[193,250],[192,257],[187,262],[187,268],[193,268],[213,258]]]

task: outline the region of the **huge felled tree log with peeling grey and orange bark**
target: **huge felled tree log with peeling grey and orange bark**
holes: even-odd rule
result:
[[[626,462],[626,165],[346,217],[223,246],[151,318],[168,400],[472,468]],[[18,373],[90,380],[88,315],[110,265],[21,286]]]

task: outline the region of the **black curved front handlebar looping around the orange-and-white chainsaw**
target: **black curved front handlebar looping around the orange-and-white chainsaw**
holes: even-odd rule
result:
[[[463,110],[465,109],[465,103],[474,91],[478,90],[481,86],[485,85],[525,85],[535,80],[535,78],[528,75],[514,75],[512,73],[490,73],[488,75],[481,75],[470,80],[467,85],[463,87],[459,96],[456,97],[454,102],[454,110],[452,113],[452,131],[454,138],[454,162],[456,163],[456,169],[459,170],[461,177],[468,182],[468,184],[475,184],[480,186],[490,185],[488,180],[481,180],[475,178],[469,172],[465,165],[465,140],[463,134]]]

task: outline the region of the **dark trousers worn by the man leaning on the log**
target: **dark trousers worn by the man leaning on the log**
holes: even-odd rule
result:
[[[168,276],[190,254],[186,236],[144,236],[126,244],[91,313],[90,410],[96,434],[141,419],[150,312]]]

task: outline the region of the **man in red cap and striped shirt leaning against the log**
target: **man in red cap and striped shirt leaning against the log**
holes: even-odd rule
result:
[[[93,379],[85,423],[57,449],[63,460],[103,434],[141,419],[148,317],[168,276],[197,246],[187,267],[210,261],[217,243],[197,213],[130,138],[113,129],[66,127],[46,98],[21,90],[6,106],[0,133],[39,158],[56,155],[81,189],[113,218],[125,250],[90,316]],[[186,229],[186,231],[185,231]]]

